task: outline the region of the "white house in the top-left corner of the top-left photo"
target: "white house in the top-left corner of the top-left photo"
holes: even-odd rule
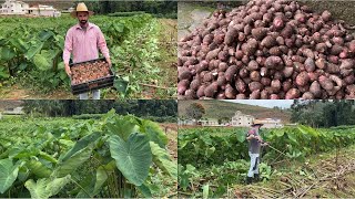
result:
[[[28,13],[29,4],[17,0],[6,0],[1,6],[0,14],[26,14]]]

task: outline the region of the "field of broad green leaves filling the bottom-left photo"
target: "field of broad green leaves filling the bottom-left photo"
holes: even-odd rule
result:
[[[175,196],[175,136],[173,124],[114,111],[97,119],[4,115],[0,198]]]

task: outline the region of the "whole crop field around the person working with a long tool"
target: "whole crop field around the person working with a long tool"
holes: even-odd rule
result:
[[[179,129],[179,197],[354,198],[355,127],[261,129],[261,181],[245,184],[246,128]]]

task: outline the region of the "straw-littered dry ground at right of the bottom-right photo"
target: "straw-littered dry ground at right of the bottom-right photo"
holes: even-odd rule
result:
[[[267,182],[237,185],[232,195],[236,198],[355,198],[354,153],[355,146],[351,146],[338,154],[334,149],[305,163],[292,163],[295,170]]]

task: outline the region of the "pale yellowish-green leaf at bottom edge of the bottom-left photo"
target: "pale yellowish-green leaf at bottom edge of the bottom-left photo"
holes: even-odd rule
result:
[[[67,184],[71,180],[71,176],[68,175],[63,178],[42,178],[37,182],[33,179],[26,181],[24,187],[30,191],[31,198],[45,199],[57,195]]]

